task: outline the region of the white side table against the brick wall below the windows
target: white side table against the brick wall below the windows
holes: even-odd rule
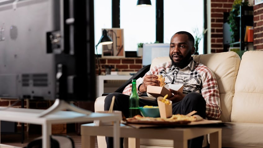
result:
[[[132,75],[98,75],[96,77],[97,92],[96,98],[104,93],[104,80],[128,80]]]

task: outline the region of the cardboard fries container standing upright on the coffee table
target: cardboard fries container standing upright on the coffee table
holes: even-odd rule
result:
[[[172,117],[172,101],[169,100],[170,104],[165,104],[161,100],[163,100],[163,97],[159,96],[157,98],[157,102],[158,102],[159,112],[160,112],[161,118],[165,119],[165,118]]]

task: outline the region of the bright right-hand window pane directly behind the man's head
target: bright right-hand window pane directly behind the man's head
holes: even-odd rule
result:
[[[203,0],[164,0],[163,8],[163,43],[170,43],[172,35],[178,31],[187,31],[194,36],[194,29],[198,28],[199,34],[202,34]],[[198,49],[199,54],[203,54],[203,39]]]

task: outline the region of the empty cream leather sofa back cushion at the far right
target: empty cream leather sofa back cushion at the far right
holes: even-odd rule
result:
[[[244,52],[233,98],[231,122],[263,123],[263,51]]]

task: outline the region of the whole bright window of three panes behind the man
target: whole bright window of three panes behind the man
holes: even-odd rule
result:
[[[136,7],[136,0],[120,0],[120,28],[124,30],[125,51],[136,51],[138,43],[156,41],[156,0],[151,2],[151,7]],[[204,0],[164,0],[163,2],[164,43],[170,43],[172,35],[178,31],[188,31],[194,36],[194,29],[198,28],[199,33],[202,33]],[[94,1],[95,45],[101,37],[101,29],[112,28],[111,5],[112,1],[109,0]],[[203,54],[203,38],[198,47],[199,54]],[[98,54],[101,52],[99,46]]]

